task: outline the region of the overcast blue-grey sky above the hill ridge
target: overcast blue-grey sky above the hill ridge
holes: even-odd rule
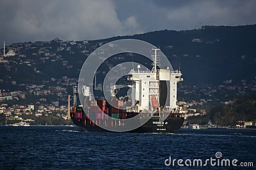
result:
[[[256,24],[256,1],[1,0],[0,42],[102,39],[202,25]]]

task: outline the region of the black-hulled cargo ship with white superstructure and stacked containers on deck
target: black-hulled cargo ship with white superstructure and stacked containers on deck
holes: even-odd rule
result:
[[[182,108],[177,106],[177,83],[183,81],[179,70],[157,67],[157,52],[152,49],[152,70],[131,69],[130,85],[109,85],[111,99],[92,100],[92,88],[74,88],[74,106],[70,118],[88,132],[169,132],[180,129],[184,122]],[[131,89],[129,97],[116,98],[122,88]],[[78,93],[84,100],[77,105]]]

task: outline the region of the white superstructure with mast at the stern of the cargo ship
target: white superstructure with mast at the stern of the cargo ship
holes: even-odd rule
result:
[[[175,111],[177,108],[177,83],[183,81],[182,73],[170,68],[157,69],[159,55],[154,50],[152,71],[133,69],[128,80],[132,81],[132,101],[136,101],[135,112],[161,113],[161,111]],[[169,95],[168,95],[169,94]]]

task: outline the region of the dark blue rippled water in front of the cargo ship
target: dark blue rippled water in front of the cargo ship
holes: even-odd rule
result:
[[[0,169],[228,169],[165,166],[164,160],[222,159],[253,162],[256,131],[180,129],[177,134],[81,132],[77,127],[0,127]]]

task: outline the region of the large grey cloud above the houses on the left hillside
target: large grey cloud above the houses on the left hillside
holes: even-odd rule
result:
[[[4,1],[1,37],[11,41],[97,39],[122,33],[111,1]],[[4,33],[3,33],[4,32]]]

